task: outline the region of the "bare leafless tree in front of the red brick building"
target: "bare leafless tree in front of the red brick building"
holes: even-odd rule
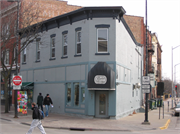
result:
[[[17,4],[16,2],[14,4]],[[17,8],[17,7],[16,7]],[[41,21],[39,14],[40,8],[36,1],[21,1],[19,8],[19,28],[17,31],[17,12],[15,9],[1,12],[1,68],[4,78],[5,87],[5,113],[8,113],[8,81],[12,67],[16,62],[16,58],[25,48],[35,39],[39,38],[39,29],[41,29]],[[39,22],[39,23],[37,23]],[[33,27],[32,24],[36,25]],[[17,34],[18,33],[18,34]],[[18,41],[16,37],[18,35]],[[23,39],[23,40],[22,40]],[[15,56],[15,48],[18,45],[18,56]],[[18,64],[20,59],[18,58]],[[19,65],[18,65],[19,66]]]

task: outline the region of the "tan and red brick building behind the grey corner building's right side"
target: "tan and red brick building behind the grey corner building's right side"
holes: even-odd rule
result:
[[[124,18],[130,27],[135,39],[138,43],[143,45],[143,75],[146,74],[146,26],[144,24],[144,18],[140,16],[124,15]],[[148,27],[147,27],[148,28]],[[153,55],[155,47],[152,41],[151,31],[147,30],[147,43],[148,43],[148,76],[150,76],[151,93],[149,99],[157,98],[156,95],[156,76],[155,76],[155,65]],[[145,102],[145,95],[144,95]],[[144,103],[142,102],[142,103]]]

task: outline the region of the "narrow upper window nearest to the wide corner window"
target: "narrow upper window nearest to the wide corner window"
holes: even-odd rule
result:
[[[76,31],[76,55],[81,55],[81,27],[75,29]]]

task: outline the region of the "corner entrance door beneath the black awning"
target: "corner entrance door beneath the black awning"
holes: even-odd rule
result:
[[[108,92],[96,91],[96,117],[108,118]]]

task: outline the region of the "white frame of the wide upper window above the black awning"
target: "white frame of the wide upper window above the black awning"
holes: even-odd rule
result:
[[[99,40],[98,38],[98,33],[99,33],[99,30],[106,30],[107,31],[107,40]],[[108,53],[108,50],[109,50],[109,47],[108,47],[108,44],[109,44],[109,29],[108,28],[97,28],[97,46],[96,46],[96,49],[97,49],[97,53]],[[104,51],[104,52],[99,52],[99,49],[98,49],[98,46],[99,46],[99,41],[107,41],[107,51]]]

